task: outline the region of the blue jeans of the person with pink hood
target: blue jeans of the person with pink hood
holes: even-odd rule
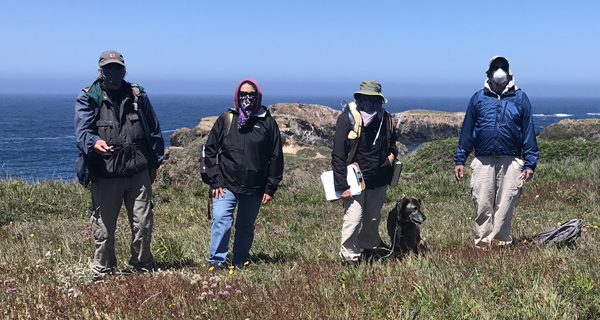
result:
[[[260,196],[234,194],[225,189],[225,197],[213,200],[213,221],[210,229],[210,258],[208,262],[225,263],[229,250],[229,237],[233,225],[233,211],[238,206],[233,240],[233,265],[250,261],[250,248],[254,241],[254,222],[262,202]]]

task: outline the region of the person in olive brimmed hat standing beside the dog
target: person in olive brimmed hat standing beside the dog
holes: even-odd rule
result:
[[[363,81],[354,100],[360,112],[360,117],[355,119],[358,121],[355,124],[361,127],[360,135],[356,137],[353,131],[352,113],[342,113],[337,119],[331,152],[335,190],[344,201],[340,256],[347,263],[358,261],[361,249],[370,257],[381,244],[381,207],[392,178],[392,163],[398,155],[391,115],[382,107],[387,99],[381,94],[381,85],[377,81]],[[358,144],[354,150],[352,143]],[[365,182],[365,190],[360,195],[352,195],[346,178],[347,164],[354,162],[360,167]]]

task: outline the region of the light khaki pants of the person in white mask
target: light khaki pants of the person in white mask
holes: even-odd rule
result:
[[[475,204],[475,245],[492,240],[512,242],[510,223],[523,187],[523,160],[515,156],[481,156],[471,163],[471,197]]]

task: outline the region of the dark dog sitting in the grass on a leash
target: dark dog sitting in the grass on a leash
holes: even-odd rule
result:
[[[427,250],[427,244],[421,239],[418,226],[427,219],[421,212],[422,205],[423,202],[418,198],[405,197],[396,202],[396,206],[390,211],[387,228],[394,252],[419,254],[419,249]]]

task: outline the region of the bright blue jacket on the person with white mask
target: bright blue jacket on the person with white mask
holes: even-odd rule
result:
[[[498,95],[486,87],[473,95],[454,162],[464,165],[473,148],[475,156],[522,156],[523,170],[535,170],[540,152],[525,92],[512,87]]]

